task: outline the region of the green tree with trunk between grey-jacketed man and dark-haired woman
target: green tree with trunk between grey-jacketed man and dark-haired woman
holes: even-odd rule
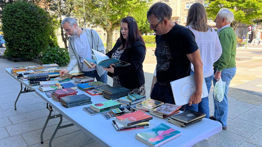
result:
[[[81,10],[82,4],[79,0],[76,9]],[[112,49],[113,31],[120,26],[120,20],[140,12],[145,5],[147,1],[144,0],[85,0],[86,20],[106,30],[106,50],[109,51]]]

